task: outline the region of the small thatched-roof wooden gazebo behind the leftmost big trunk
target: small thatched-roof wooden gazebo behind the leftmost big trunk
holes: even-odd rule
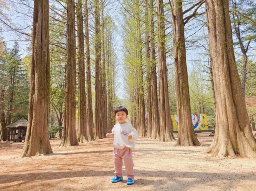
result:
[[[10,141],[22,142],[22,140],[25,140],[27,126],[28,121],[24,118],[21,118],[19,121],[16,121],[6,126],[7,128],[9,128]]]

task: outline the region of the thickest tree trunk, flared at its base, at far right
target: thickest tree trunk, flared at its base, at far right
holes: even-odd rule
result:
[[[256,157],[256,140],[235,63],[228,1],[206,0],[205,9],[216,99],[215,136],[205,152]]]

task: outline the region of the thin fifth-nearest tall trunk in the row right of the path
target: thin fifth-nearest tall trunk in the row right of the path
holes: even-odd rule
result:
[[[151,64],[149,50],[149,11],[148,1],[145,0],[145,60],[146,60],[146,84],[147,84],[147,138],[152,135],[152,91],[151,91]]]

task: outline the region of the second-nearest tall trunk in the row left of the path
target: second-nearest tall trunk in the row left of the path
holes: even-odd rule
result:
[[[65,81],[64,133],[60,147],[79,145],[75,132],[75,4],[67,1],[67,65]]]

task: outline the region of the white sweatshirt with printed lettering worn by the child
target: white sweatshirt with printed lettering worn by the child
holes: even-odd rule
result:
[[[115,148],[130,147],[131,150],[135,148],[135,141],[138,139],[139,134],[130,123],[116,123],[112,129],[112,133],[114,133],[113,145]],[[129,134],[132,135],[132,139],[130,140],[128,139]]]

